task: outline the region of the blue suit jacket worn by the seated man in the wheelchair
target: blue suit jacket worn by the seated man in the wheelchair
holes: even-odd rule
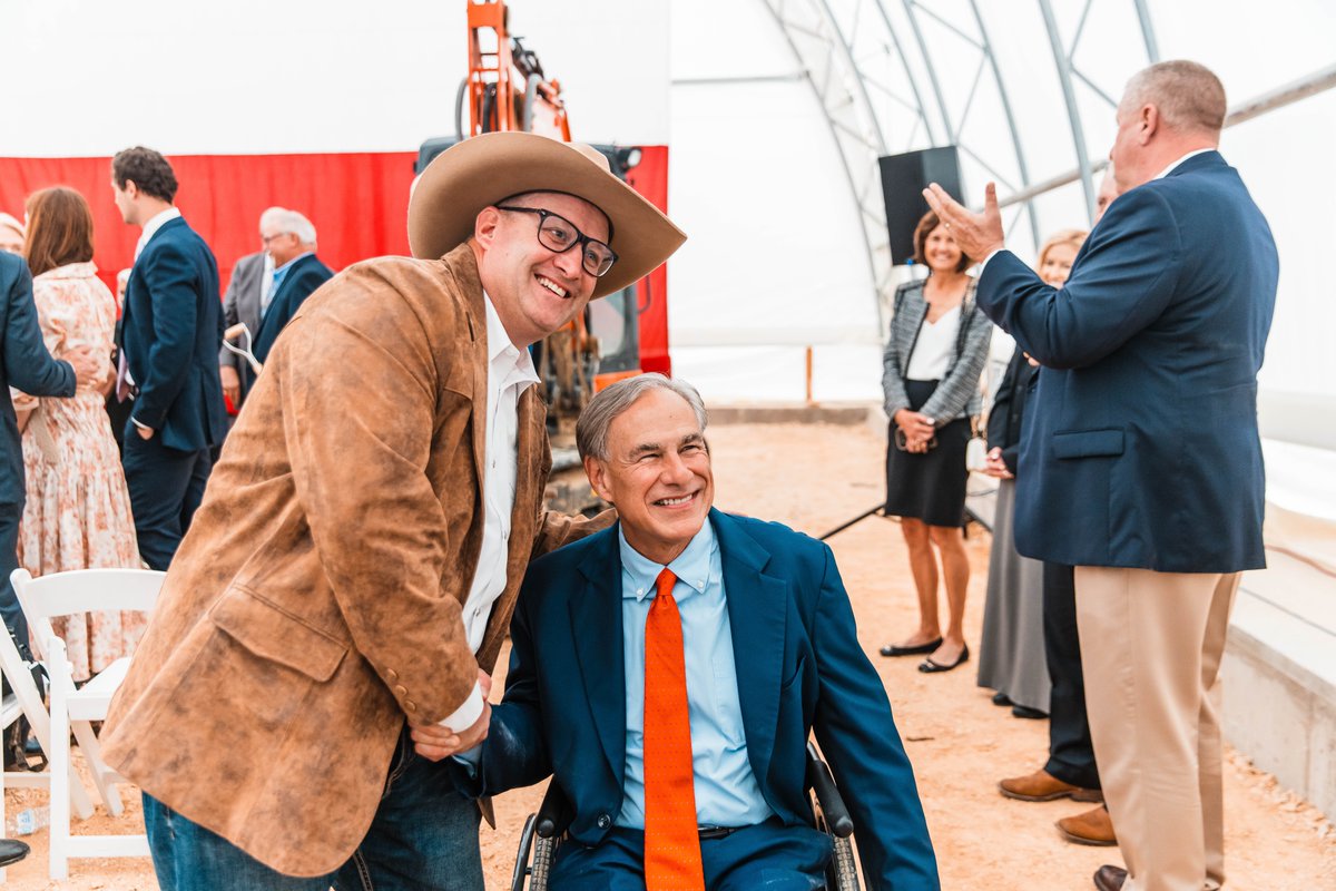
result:
[[[779,524],[711,510],[737,659],[747,753],[767,804],[811,826],[808,735],[854,818],[871,890],[938,888],[914,771],[858,643],[830,548]],[[505,700],[484,745],[494,795],[556,771],[570,835],[599,844],[621,810],[627,679],[617,526],[529,565],[510,625]]]

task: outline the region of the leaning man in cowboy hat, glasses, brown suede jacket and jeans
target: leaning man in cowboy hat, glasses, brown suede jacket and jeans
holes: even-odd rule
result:
[[[685,236],[595,150],[490,134],[274,345],[112,703],[163,888],[481,888],[477,807],[407,728],[486,735],[548,514],[526,347]],[[616,246],[616,247],[613,247]]]

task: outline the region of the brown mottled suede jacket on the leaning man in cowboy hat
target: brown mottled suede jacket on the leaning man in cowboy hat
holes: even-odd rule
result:
[[[322,286],[277,342],[167,573],[103,733],[107,761],[290,875],[337,870],[405,720],[492,671],[532,556],[607,526],[542,509],[536,387],[518,405],[505,592],[474,657],[486,317],[472,248]]]

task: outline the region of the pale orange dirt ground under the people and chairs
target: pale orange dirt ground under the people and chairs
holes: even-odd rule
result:
[[[737,425],[711,430],[716,505],[724,510],[780,520],[819,536],[880,497],[883,439],[870,427]],[[859,637],[868,652],[908,633],[915,620],[899,530],[884,518],[866,520],[835,536]],[[974,573],[966,614],[967,639],[978,644],[989,536],[971,534]],[[502,657],[504,661],[504,657]],[[914,660],[874,656],[886,681],[900,735],[918,775],[937,847],[942,886],[1086,891],[1104,863],[1121,863],[1116,848],[1062,842],[1053,822],[1089,807],[1069,800],[1046,804],[998,795],[1003,776],[1042,765],[1047,723],[1017,720],[995,708],[991,691],[975,685],[973,663],[947,675],[922,675]],[[500,681],[500,679],[498,679]],[[500,684],[498,684],[500,685]],[[521,789],[496,801],[497,831],[482,830],[489,888],[509,887],[524,816],[537,808],[542,788]],[[7,812],[45,803],[45,793],[7,792]],[[132,789],[127,797],[138,799]],[[1236,891],[1336,890],[1336,831],[1312,806],[1281,789],[1275,777],[1236,752],[1225,772],[1228,887]],[[112,820],[99,808],[76,832],[140,832],[138,800]],[[9,870],[13,888],[147,891],[156,888],[147,860],[75,860],[67,883],[47,880],[47,831],[28,840],[33,854]]]

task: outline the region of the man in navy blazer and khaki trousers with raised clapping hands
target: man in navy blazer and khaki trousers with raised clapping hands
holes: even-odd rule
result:
[[[1037,358],[1021,553],[1075,566],[1086,708],[1128,870],[1096,887],[1224,882],[1214,696],[1238,573],[1265,565],[1257,370],[1276,302],[1271,228],[1217,146],[1225,91],[1190,61],[1128,83],[1109,154],[1124,194],[1061,290],[935,186],[985,259],[979,307]]]

